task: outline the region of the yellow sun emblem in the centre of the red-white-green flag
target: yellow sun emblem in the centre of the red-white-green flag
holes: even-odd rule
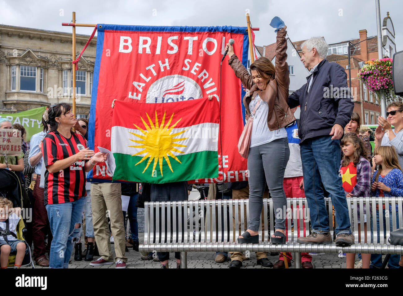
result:
[[[165,124],[165,126],[164,126],[164,123],[165,123],[166,111],[164,112],[164,116],[162,117],[161,123],[158,123],[157,111],[155,112],[155,124],[154,124],[154,122],[152,122],[152,120],[151,120],[150,116],[148,116],[147,112],[145,114],[147,115],[148,121],[150,122],[150,126],[143,120],[142,117],[140,117],[146,130],[143,130],[142,128],[140,128],[139,126],[137,126],[133,123],[133,125],[143,135],[137,135],[134,132],[130,132],[132,135],[139,137],[141,140],[129,139],[130,141],[132,141],[134,143],[139,143],[141,145],[129,146],[129,147],[143,148],[143,150],[133,154],[132,156],[141,155],[143,153],[146,153],[143,156],[143,158],[141,158],[141,160],[139,162],[137,162],[137,164],[135,164],[135,166],[137,166],[138,164],[143,162],[147,157],[149,157],[147,165],[145,166],[145,169],[143,170],[143,173],[145,172],[145,170],[147,170],[148,166],[150,166],[150,164],[151,164],[151,161],[154,159],[154,165],[152,168],[152,172],[154,172],[154,170],[157,166],[157,162],[158,162],[160,165],[161,176],[163,176],[162,175],[162,158],[165,159],[171,172],[173,172],[173,170],[172,170],[172,166],[171,166],[168,156],[172,157],[173,159],[175,159],[176,161],[178,161],[181,164],[181,161],[172,152],[185,153],[184,151],[178,150],[175,147],[186,147],[186,145],[179,144],[177,142],[183,141],[187,138],[178,139],[178,138],[174,138],[174,137],[183,134],[187,129],[174,133],[174,134],[171,134],[172,129],[182,119],[182,118],[180,118],[177,122],[175,122],[174,124],[169,126],[172,121],[172,118],[174,117],[173,113],[172,113],[169,121]]]

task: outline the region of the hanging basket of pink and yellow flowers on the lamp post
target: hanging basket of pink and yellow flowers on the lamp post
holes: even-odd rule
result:
[[[366,85],[369,91],[380,97],[381,91],[385,92],[386,98],[395,97],[392,81],[392,59],[372,59],[367,61],[359,70],[358,77]]]

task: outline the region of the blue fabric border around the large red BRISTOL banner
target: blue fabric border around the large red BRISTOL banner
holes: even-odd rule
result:
[[[243,49],[242,49],[242,64],[247,68],[248,55],[249,55],[249,38],[247,34],[247,27],[233,27],[233,26],[216,26],[216,27],[182,27],[182,26],[132,26],[132,25],[108,25],[97,24],[97,48],[96,58],[94,65],[93,84],[91,91],[91,107],[89,110],[89,126],[88,126],[88,147],[94,150],[95,141],[95,120],[96,120],[96,103],[98,96],[98,81],[99,72],[101,67],[102,53],[104,51],[104,31],[145,31],[145,32],[228,32],[234,34],[243,34]],[[245,96],[245,91],[241,89],[241,109],[243,123],[245,124],[245,106],[243,106],[242,98]],[[87,174],[87,180],[93,179],[93,170]],[[112,182],[112,180],[94,179],[96,182]],[[91,180],[92,182],[94,180]],[[116,182],[116,181],[115,181]],[[117,183],[117,182],[116,182]],[[121,183],[121,182],[119,182]],[[127,182],[131,183],[131,182]]]

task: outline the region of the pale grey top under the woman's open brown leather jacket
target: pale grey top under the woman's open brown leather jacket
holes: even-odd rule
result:
[[[252,113],[253,109],[258,103],[259,95],[256,95],[249,103],[249,110]],[[258,106],[258,110],[255,112],[255,117],[253,118],[251,143],[249,147],[256,147],[274,141],[280,138],[287,138],[287,131],[285,128],[280,128],[277,130],[270,131],[267,126],[267,116],[269,114],[269,106],[266,101],[261,100]]]

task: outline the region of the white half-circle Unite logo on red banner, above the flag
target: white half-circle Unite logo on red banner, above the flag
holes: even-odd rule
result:
[[[183,75],[168,75],[156,80],[148,89],[147,103],[187,101],[202,97],[202,88]]]

